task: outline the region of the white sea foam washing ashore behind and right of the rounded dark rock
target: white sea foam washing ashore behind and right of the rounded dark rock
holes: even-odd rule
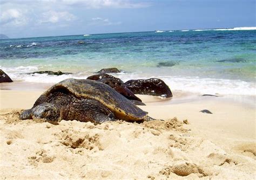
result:
[[[150,76],[139,74],[123,74],[118,77],[124,81],[130,79],[149,79]],[[223,94],[223,95],[256,95],[253,82],[229,79],[213,79],[181,76],[158,76],[173,91],[188,91],[200,94]]]

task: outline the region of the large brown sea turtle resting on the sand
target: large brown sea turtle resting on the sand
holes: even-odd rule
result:
[[[91,121],[151,121],[147,112],[102,82],[87,79],[66,79],[50,87],[24,110],[19,119]]]

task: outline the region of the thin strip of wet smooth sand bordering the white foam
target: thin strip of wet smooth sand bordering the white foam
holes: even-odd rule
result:
[[[0,84],[0,92],[40,92],[41,94],[50,88],[55,83],[35,83],[35,82],[24,82],[24,81],[15,81],[15,82],[3,82]],[[150,95],[140,95],[136,94],[139,98],[146,98],[145,103],[150,103],[151,105],[170,105],[175,103],[186,103],[193,101],[200,101],[204,99],[215,99],[220,101],[227,101],[231,103],[240,103],[243,106],[248,106],[256,108],[256,95],[235,95],[235,94],[210,94],[215,96],[203,96],[205,93],[191,92],[173,90],[171,88],[173,97],[172,98],[161,98],[159,96],[150,96]],[[40,94],[40,95],[41,95]],[[206,93],[207,94],[207,93]]]

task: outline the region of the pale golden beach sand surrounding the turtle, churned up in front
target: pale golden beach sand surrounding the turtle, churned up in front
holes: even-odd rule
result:
[[[20,110],[31,108],[42,92],[0,91],[1,179],[256,177],[254,103],[140,96],[147,105],[141,108],[165,121],[95,126],[19,120]]]

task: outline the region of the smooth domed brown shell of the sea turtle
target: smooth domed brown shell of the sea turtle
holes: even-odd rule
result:
[[[93,99],[101,102],[118,118],[126,121],[143,120],[147,112],[102,82],[89,79],[65,79],[50,87],[42,96],[49,96],[58,89],[66,89],[79,99]]]

